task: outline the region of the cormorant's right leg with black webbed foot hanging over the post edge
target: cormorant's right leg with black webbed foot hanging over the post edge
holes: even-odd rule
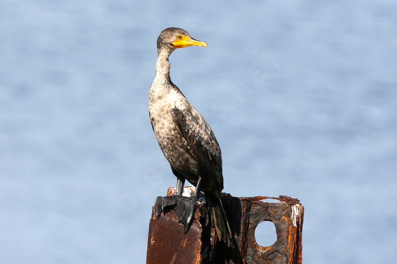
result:
[[[201,177],[197,181],[196,190],[191,197],[181,197],[176,201],[176,213],[179,222],[183,223],[185,233],[188,232],[190,225],[192,224],[193,216],[196,212],[196,203],[199,200],[199,194],[201,189]]]

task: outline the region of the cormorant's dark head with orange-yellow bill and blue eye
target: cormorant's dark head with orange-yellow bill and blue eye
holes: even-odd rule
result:
[[[207,47],[204,41],[195,40],[190,36],[189,32],[182,28],[166,28],[158,36],[157,53],[160,53],[162,49],[166,49],[171,54],[175,49],[193,45]]]

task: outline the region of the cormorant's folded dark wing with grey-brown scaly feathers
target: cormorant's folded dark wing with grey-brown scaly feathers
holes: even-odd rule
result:
[[[207,121],[193,107],[188,106],[183,111],[174,107],[172,118],[179,128],[181,137],[185,139],[186,148],[193,158],[202,165],[210,177],[223,189],[222,155],[218,141]],[[201,175],[205,177],[206,175]]]

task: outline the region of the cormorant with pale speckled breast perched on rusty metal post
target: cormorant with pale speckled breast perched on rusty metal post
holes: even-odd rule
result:
[[[164,29],[157,39],[155,77],[149,91],[149,117],[165,158],[177,177],[176,195],[157,197],[157,216],[167,206],[176,206],[185,233],[196,211],[199,192],[205,194],[212,226],[219,240],[232,246],[232,236],[220,194],[223,189],[222,156],[212,129],[179,88],[171,82],[169,55],[178,48],[207,47],[181,28]],[[192,197],[182,197],[185,179],[196,186]]]

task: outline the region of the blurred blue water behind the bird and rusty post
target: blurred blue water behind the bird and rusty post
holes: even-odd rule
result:
[[[397,258],[397,3],[0,2],[1,263],[144,263],[175,184],[147,96],[171,77],[221,145],[225,192],[305,205],[304,263]]]

